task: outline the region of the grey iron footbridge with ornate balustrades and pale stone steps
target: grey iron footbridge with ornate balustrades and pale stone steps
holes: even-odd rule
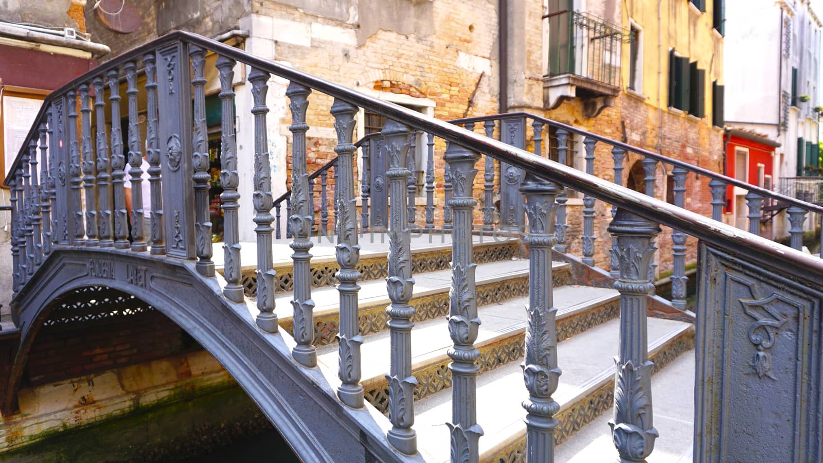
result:
[[[209,59],[223,110],[225,234],[217,253],[204,138]],[[235,138],[239,65],[250,69],[254,105],[237,124],[253,124],[253,161],[239,159]],[[106,129],[105,119],[106,107],[121,112],[121,77],[125,135],[119,124]],[[282,79],[293,190],[275,200],[267,90]],[[127,157],[132,178],[142,174],[142,92],[151,212],[128,210],[124,192]],[[332,193],[309,187],[317,178],[306,164],[309,105],[335,119],[338,157],[319,180],[333,173]],[[354,140],[359,108],[388,118],[379,137]],[[484,133],[475,133],[480,124]],[[544,156],[544,127],[556,130],[559,162]],[[570,134],[584,138],[584,171],[565,165]],[[631,461],[651,455],[655,441],[672,455],[691,449],[700,461],[743,448],[757,461],[819,457],[819,446],[767,445],[750,435],[724,434],[720,442],[718,428],[758,419],[742,398],[752,391],[772,397],[768,413],[794,417],[792,407],[813,414],[823,406],[820,381],[810,381],[821,371],[814,326],[823,264],[797,250],[799,225],[795,249],[758,236],[764,198],[792,204],[793,225],[823,208],[534,115],[439,121],[186,32],[53,92],[27,138],[6,180],[15,295],[14,328],[0,334],[4,419],[18,411],[21,370],[53,306],[72,290],[103,285],[191,334],[304,461],[551,461],[555,447],[560,455],[576,437],[593,435],[606,437],[598,437],[604,451]],[[419,212],[414,143],[427,147]],[[592,175],[603,150],[614,161],[613,182]],[[434,183],[435,152],[444,161],[443,189]],[[648,168],[645,194],[621,186],[629,156]],[[673,168],[674,204],[654,198],[658,164]],[[239,170],[253,170],[250,199],[239,194]],[[692,173],[710,179],[711,219],[685,208]],[[727,185],[750,190],[749,233],[718,222]],[[133,180],[133,204],[143,203],[139,186]],[[567,234],[571,190],[585,206],[579,236]],[[256,241],[241,242],[239,203],[249,200]],[[286,200],[288,224],[280,218]],[[607,239],[596,236],[598,207],[611,209]],[[661,226],[674,231],[671,302],[653,295]],[[686,310],[687,236],[699,249],[695,311]],[[570,252],[576,241],[579,255]],[[603,268],[597,246],[610,249]],[[670,445],[673,434],[652,423],[658,376],[651,376],[660,371],[659,381],[670,384],[663,375],[671,362],[695,371],[686,388],[696,391],[695,425],[681,423],[687,430],[677,434],[693,428],[693,446]],[[732,376],[731,384],[712,381]],[[770,382],[778,376],[784,381]],[[804,397],[779,394],[789,383]],[[733,400],[721,404],[723,394]],[[655,393],[659,400],[671,398]],[[609,409],[611,432],[589,431]],[[806,421],[786,423],[781,429],[802,442],[823,438]]]

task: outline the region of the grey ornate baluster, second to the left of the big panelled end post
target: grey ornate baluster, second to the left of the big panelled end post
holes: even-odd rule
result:
[[[526,197],[528,246],[531,270],[528,285],[528,330],[523,359],[523,381],[528,390],[526,409],[527,461],[554,461],[555,428],[553,415],[560,405],[551,398],[557,390],[560,368],[557,367],[557,335],[552,301],[551,246],[555,244],[554,221],[560,185],[526,174],[520,192]]]

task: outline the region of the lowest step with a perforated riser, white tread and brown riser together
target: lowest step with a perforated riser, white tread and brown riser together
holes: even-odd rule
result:
[[[558,343],[558,364],[563,374],[554,394],[560,404],[555,432],[563,442],[585,424],[611,409],[614,394],[614,355],[618,349],[619,320],[609,320]],[[694,345],[693,325],[675,320],[649,319],[649,357],[663,367]],[[517,461],[525,453],[525,411],[528,397],[519,362],[477,376],[477,422],[481,461]],[[439,391],[416,402],[417,442],[434,461],[449,461],[452,394]]]

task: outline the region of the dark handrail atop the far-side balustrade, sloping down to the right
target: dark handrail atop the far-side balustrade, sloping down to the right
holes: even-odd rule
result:
[[[686,171],[691,171],[691,172],[694,172],[695,174],[709,177],[710,179],[720,180],[720,181],[722,181],[723,183],[725,183],[727,185],[737,186],[737,187],[740,187],[742,189],[748,189],[749,191],[753,191],[753,192],[756,192],[758,194],[763,195],[765,198],[779,200],[779,201],[782,201],[784,203],[790,203],[793,206],[797,206],[798,208],[806,209],[807,211],[812,212],[812,213],[823,214],[823,207],[821,207],[821,206],[817,206],[815,204],[807,203],[805,201],[801,201],[799,199],[795,199],[795,198],[792,198],[790,196],[786,196],[785,194],[780,194],[780,193],[772,191],[770,189],[765,189],[765,188],[762,188],[762,187],[757,186],[757,185],[752,185],[750,183],[746,183],[742,180],[737,180],[735,178],[728,177],[728,176],[723,175],[723,174],[718,174],[717,172],[709,171],[708,169],[704,169],[703,167],[700,167],[700,166],[694,166],[694,165],[689,164],[688,162],[685,162],[685,161],[679,161],[679,160],[674,159],[672,157],[663,156],[662,154],[658,154],[656,152],[650,152],[650,151],[645,150],[643,148],[632,146],[628,143],[623,143],[623,142],[620,142],[620,141],[617,141],[617,140],[613,140],[611,138],[604,137],[602,135],[597,135],[597,133],[587,132],[586,130],[583,130],[583,129],[577,129],[577,128],[571,126],[571,125],[563,124],[562,122],[557,122],[556,120],[547,119],[547,118],[542,117],[540,115],[533,115],[532,113],[527,113],[525,111],[517,111],[517,112],[513,112],[513,113],[504,113],[504,114],[500,114],[500,115],[488,115],[488,116],[469,117],[469,118],[463,118],[463,119],[453,119],[453,120],[449,120],[449,123],[451,123],[451,124],[466,124],[468,122],[477,123],[477,122],[485,122],[487,120],[492,120],[492,119],[496,120],[496,119],[515,118],[515,117],[523,117],[523,118],[531,118],[531,119],[539,120],[540,122],[542,122],[544,124],[554,126],[558,129],[568,130],[571,133],[577,133],[579,135],[583,135],[584,137],[593,138],[593,139],[597,140],[598,142],[607,143],[607,144],[610,144],[611,146],[614,146],[614,147],[621,147],[621,148],[625,149],[627,152],[634,152],[635,154],[639,154],[639,155],[644,156],[644,157],[651,157],[654,160],[663,162],[665,164],[668,164],[668,165],[671,165],[671,166],[681,167],[683,169],[686,169]],[[783,178],[783,177],[781,177],[781,178]],[[798,177],[798,178],[812,178],[812,177]]]

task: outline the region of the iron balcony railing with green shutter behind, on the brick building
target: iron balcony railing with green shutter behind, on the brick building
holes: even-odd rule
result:
[[[584,12],[563,10],[545,17],[549,30],[548,75],[575,74],[618,87],[621,44],[629,31]]]

